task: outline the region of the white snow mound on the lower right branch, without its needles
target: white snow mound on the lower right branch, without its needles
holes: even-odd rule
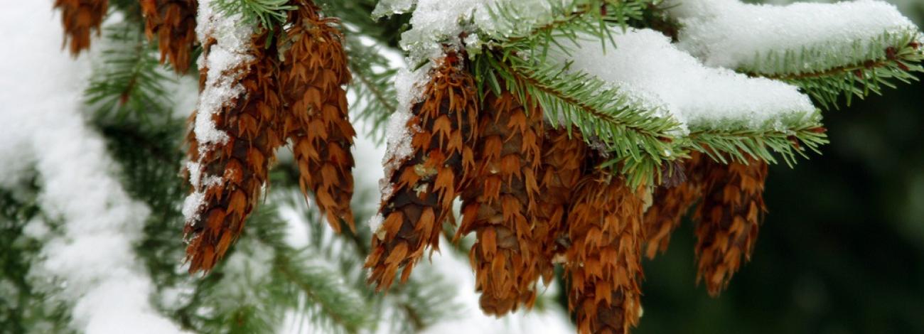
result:
[[[614,30],[615,47],[595,38],[561,41],[570,56],[550,57],[614,83],[649,105],[662,105],[689,127],[783,127],[783,120],[814,113],[808,96],[795,86],[767,78],[748,78],[726,68],[703,66],[677,50],[655,30]]]

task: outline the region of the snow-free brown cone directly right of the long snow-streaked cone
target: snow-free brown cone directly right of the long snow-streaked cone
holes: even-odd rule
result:
[[[341,222],[356,231],[350,199],[353,197],[353,155],[356,131],[349,123],[346,90],[350,79],[339,20],[321,18],[310,1],[291,1],[280,84],[286,100],[286,121],[281,130],[294,143],[298,185],[314,193],[318,207],[337,233]]]

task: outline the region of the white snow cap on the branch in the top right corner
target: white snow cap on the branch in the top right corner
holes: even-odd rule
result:
[[[680,48],[707,66],[753,66],[767,54],[801,53],[806,48],[822,48],[849,58],[857,42],[865,46],[883,33],[918,31],[894,5],[876,0],[787,6],[748,5],[738,0],[671,2],[669,13],[684,26]],[[773,67],[751,69],[773,73]]]

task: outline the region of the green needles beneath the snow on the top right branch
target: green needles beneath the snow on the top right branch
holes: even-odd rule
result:
[[[895,81],[917,81],[914,72],[924,72],[920,41],[918,31],[885,32],[849,46],[829,42],[757,54],[752,64],[739,71],[791,83],[824,109],[837,109],[842,98],[850,105],[855,96],[863,99],[870,93],[881,94],[883,88],[895,88]]]

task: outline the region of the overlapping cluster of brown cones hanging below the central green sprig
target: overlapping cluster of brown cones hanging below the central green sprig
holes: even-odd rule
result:
[[[503,316],[536,299],[554,264],[565,268],[568,304],[581,333],[626,333],[641,314],[642,247],[653,257],[699,201],[699,280],[717,295],[748,257],[764,212],[765,162],[723,164],[694,152],[676,185],[633,187],[600,168],[603,157],[576,129],[546,123],[534,101],[489,92],[480,101],[465,57],[436,62],[407,122],[413,154],[386,178],[383,223],[366,267],[387,289],[437,249],[452,203],[456,239],[469,252],[481,309]]]

